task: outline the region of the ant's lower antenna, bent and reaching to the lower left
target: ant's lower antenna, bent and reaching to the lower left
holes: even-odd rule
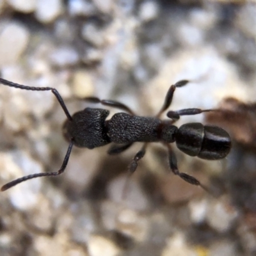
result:
[[[30,179],[34,179],[34,178],[37,178],[37,177],[60,175],[61,173],[63,173],[65,171],[65,168],[67,167],[68,159],[69,159],[69,156],[70,156],[73,145],[74,145],[74,140],[71,140],[70,143],[69,143],[69,146],[68,146],[66,156],[65,156],[65,158],[63,160],[63,163],[61,165],[61,168],[60,168],[60,170],[58,170],[58,172],[35,173],[35,174],[28,175],[28,176],[24,176],[24,177],[21,177],[19,179],[12,180],[11,182],[6,183],[1,188],[1,191],[5,191],[6,189],[12,188],[13,186],[19,184],[20,182],[30,180]]]

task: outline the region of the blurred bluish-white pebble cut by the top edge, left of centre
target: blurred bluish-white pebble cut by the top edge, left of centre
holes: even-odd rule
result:
[[[49,23],[63,11],[61,0],[37,0],[35,16],[40,22]]]

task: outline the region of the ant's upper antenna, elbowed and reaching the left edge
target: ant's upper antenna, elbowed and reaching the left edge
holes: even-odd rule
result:
[[[55,95],[58,102],[60,103],[61,108],[65,112],[65,115],[67,116],[68,120],[72,121],[72,117],[70,116],[70,113],[68,112],[68,109],[67,109],[63,99],[61,98],[60,93],[55,88],[26,86],[26,85],[17,84],[17,83],[7,81],[3,78],[0,78],[0,83],[10,86],[10,87],[19,88],[19,89],[23,89],[23,90],[29,90],[29,91],[52,91],[52,93]]]

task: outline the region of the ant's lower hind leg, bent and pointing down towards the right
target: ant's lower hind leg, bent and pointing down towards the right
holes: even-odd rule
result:
[[[168,157],[169,157],[169,164],[170,164],[170,168],[172,170],[172,172],[175,175],[178,175],[181,179],[185,180],[186,182],[192,184],[192,185],[196,185],[196,186],[201,186],[203,189],[205,189],[204,186],[202,186],[202,184],[200,184],[199,180],[197,180],[196,178],[194,178],[191,175],[188,175],[186,173],[182,173],[179,172],[178,166],[177,166],[177,158],[172,150],[171,145],[168,145]],[[207,189],[205,189],[207,190]]]

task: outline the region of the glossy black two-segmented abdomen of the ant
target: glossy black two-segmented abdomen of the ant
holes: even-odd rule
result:
[[[175,134],[179,150],[202,159],[222,159],[230,152],[228,133],[215,125],[189,123],[181,125]]]

